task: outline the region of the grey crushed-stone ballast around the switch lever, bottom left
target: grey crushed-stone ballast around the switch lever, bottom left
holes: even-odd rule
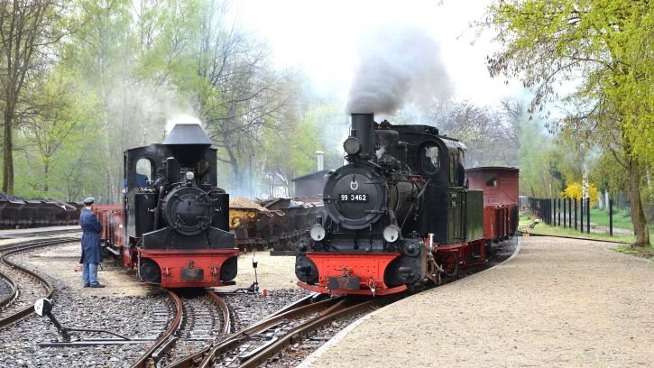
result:
[[[161,308],[157,296],[107,299],[95,295],[79,295],[60,281],[52,280],[57,290],[53,314],[64,327],[107,329],[124,336],[148,335],[155,325],[153,312]],[[165,311],[165,308],[164,308]],[[107,318],[111,316],[111,318]],[[161,326],[161,332],[165,326]],[[108,337],[88,333],[71,333],[74,337]],[[38,343],[60,340],[48,318],[32,316],[0,331],[0,366],[2,367],[124,367],[143,354],[144,345],[91,347],[47,347]]]

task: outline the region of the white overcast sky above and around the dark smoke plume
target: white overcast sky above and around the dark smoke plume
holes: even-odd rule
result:
[[[482,17],[489,3],[239,0],[232,10],[244,29],[269,43],[279,66],[305,70],[318,91],[335,94],[344,101],[355,77],[363,35],[380,25],[388,28],[410,24],[438,42],[457,100],[494,106],[503,96],[516,96],[520,85],[511,82],[507,86],[505,78],[489,77],[484,62],[498,46],[490,42],[488,34],[475,41],[475,32],[468,28],[469,23]]]

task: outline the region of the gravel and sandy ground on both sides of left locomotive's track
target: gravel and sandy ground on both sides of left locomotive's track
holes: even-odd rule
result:
[[[9,243],[9,242],[5,242]],[[13,242],[12,242],[13,243]],[[75,271],[79,260],[78,242],[25,253],[26,263],[41,274],[49,275],[55,288],[53,314],[64,327],[105,328],[131,337],[155,337],[166,328],[171,313],[170,302],[158,289],[146,287],[134,274],[104,262],[98,278],[105,289],[82,288],[81,272]],[[239,275],[234,290],[249,286],[254,280],[252,253],[239,258]],[[271,257],[257,253],[259,294],[228,296],[229,307],[236,312],[236,329],[251,325],[295,299],[307,294],[294,288],[293,257]],[[293,290],[289,290],[292,288]],[[150,328],[155,327],[155,332]],[[74,337],[105,337],[73,334]],[[91,347],[41,348],[38,343],[60,339],[47,318],[31,317],[0,330],[0,367],[128,367],[143,354],[148,344]]]

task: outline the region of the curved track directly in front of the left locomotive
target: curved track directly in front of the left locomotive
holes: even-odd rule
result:
[[[133,368],[163,366],[176,357],[210,345],[230,331],[229,309],[216,293],[205,291],[199,297],[180,297],[174,291],[165,291],[173,301],[175,317],[160,338],[132,365]],[[219,316],[222,320],[218,320]]]

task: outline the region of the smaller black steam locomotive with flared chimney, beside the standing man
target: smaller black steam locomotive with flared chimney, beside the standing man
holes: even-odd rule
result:
[[[200,125],[177,124],[163,143],[124,152],[123,206],[97,212],[106,250],[140,281],[164,288],[233,283],[238,248],[210,146]]]

